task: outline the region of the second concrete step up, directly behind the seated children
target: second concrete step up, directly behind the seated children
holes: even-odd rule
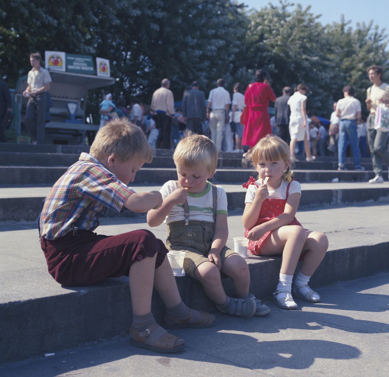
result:
[[[159,190],[161,185],[131,185],[135,191]],[[40,203],[51,186],[1,187],[0,221],[35,221],[40,213]],[[242,185],[223,184],[227,193],[228,210],[243,209],[246,189]],[[302,183],[300,208],[320,208],[350,203],[389,201],[389,182],[371,185],[367,182]],[[140,214],[125,211],[121,215],[107,210],[106,217],[137,217]]]

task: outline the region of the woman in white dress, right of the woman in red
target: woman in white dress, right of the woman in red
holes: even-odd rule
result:
[[[291,157],[296,159],[294,150],[296,149],[297,141],[304,140],[305,154],[307,161],[313,161],[315,158],[311,155],[309,146],[309,127],[307,127],[307,93],[309,90],[305,84],[299,84],[295,89],[294,94],[289,98],[288,105],[291,109],[289,120],[289,134],[291,136],[290,150]]]

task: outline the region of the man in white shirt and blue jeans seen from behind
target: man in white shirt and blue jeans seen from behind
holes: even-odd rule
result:
[[[361,166],[361,151],[358,145],[357,122],[361,119],[361,102],[354,98],[354,88],[347,85],[343,88],[344,98],[336,104],[336,116],[339,121],[338,137],[338,170],[347,170],[344,166],[347,144],[350,143],[354,169],[364,170]]]

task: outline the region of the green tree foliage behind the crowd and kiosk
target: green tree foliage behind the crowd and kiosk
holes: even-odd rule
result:
[[[219,77],[232,92],[265,67],[277,95],[304,82],[308,108],[328,116],[344,85],[364,100],[368,65],[389,68],[384,32],[348,25],[342,18],[323,26],[310,7],[287,1],[247,12],[234,0],[0,0],[1,76],[14,87],[35,51],[100,56],[111,62],[114,99],[149,103],[165,77],[180,100],[195,79],[206,95]],[[87,112],[96,114],[100,96],[89,93]]]

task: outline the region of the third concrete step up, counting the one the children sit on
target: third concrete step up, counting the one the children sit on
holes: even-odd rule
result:
[[[49,185],[65,173],[68,166],[0,166],[0,185]],[[331,182],[334,178],[340,181],[367,182],[375,174],[372,171],[334,171],[334,170],[294,170],[299,182]],[[386,172],[384,173],[386,176]],[[249,169],[217,169],[212,181],[214,183],[244,183],[256,171]],[[144,167],[138,171],[136,180],[144,184],[163,184],[167,180],[177,179],[174,168]]]

